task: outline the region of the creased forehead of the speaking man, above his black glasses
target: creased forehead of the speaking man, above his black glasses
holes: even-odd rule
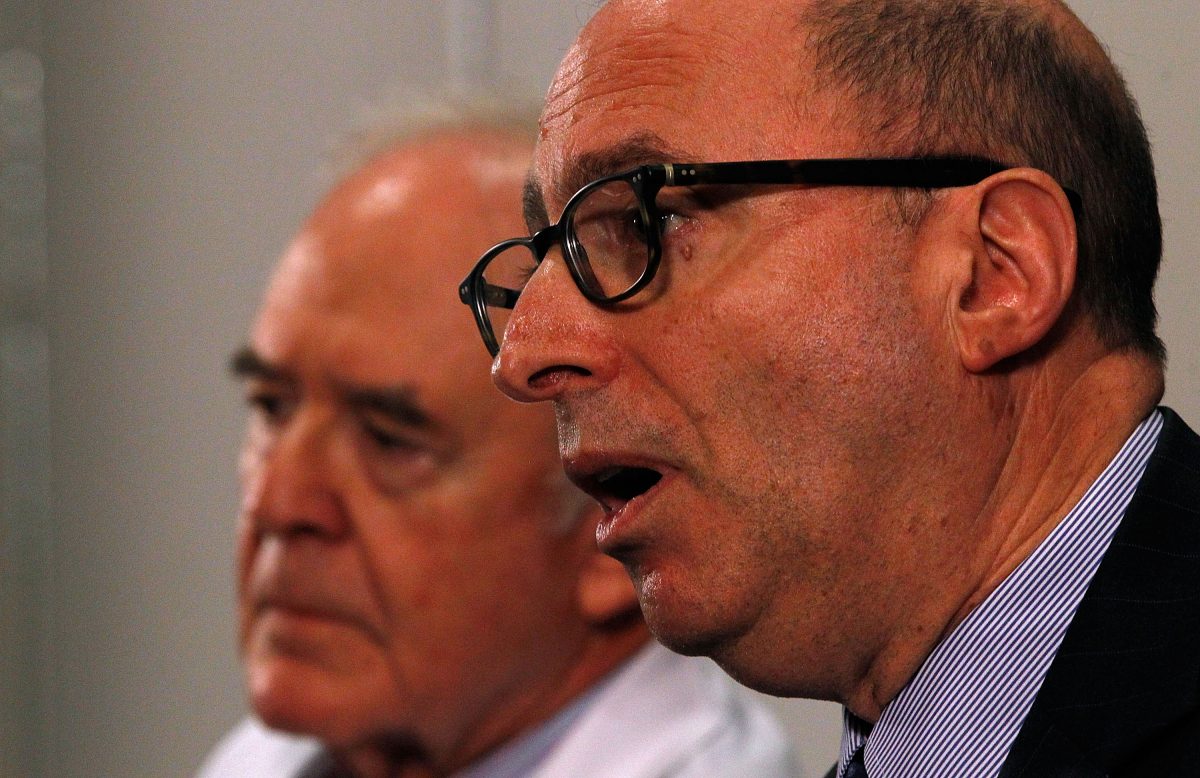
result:
[[[606,5],[564,59],[547,96],[534,160],[534,180],[547,202],[560,207],[598,168],[614,172],[655,157],[842,154],[850,143],[834,131],[829,96],[806,85],[797,5]],[[655,154],[648,145],[664,148]]]

